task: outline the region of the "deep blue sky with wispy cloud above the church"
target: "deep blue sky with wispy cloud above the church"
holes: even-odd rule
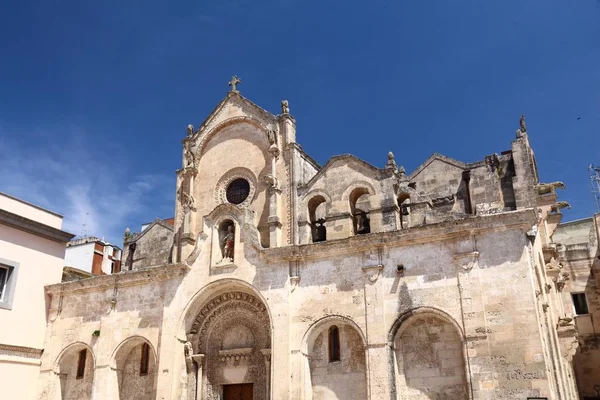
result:
[[[599,0],[7,2],[0,191],[120,243],[173,214],[185,128],[233,74],[272,112],[288,99],[323,164],[481,160],[510,149],[524,113],[566,219],[595,210]]]

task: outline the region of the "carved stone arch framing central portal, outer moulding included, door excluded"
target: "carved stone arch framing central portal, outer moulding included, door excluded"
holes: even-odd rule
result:
[[[185,312],[191,358],[205,371],[194,374],[188,369],[188,398],[195,398],[193,391],[213,398],[211,394],[222,394],[224,385],[242,383],[253,385],[254,398],[269,398],[272,325],[266,302],[241,281],[226,279],[208,286]],[[182,349],[182,358],[183,353]]]

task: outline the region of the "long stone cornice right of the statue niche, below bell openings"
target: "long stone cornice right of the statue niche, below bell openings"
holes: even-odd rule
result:
[[[323,259],[337,255],[354,254],[373,247],[409,246],[432,243],[485,231],[531,229],[537,221],[534,209],[510,211],[499,214],[471,216],[460,220],[427,224],[391,232],[356,235],[345,239],[329,240],[298,246],[276,247],[261,251],[268,261]]]

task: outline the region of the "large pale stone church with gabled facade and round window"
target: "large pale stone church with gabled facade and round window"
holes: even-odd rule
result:
[[[477,162],[319,165],[291,105],[239,83],[188,127],[173,223],[127,231],[122,272],[46,287],[40,399],[578,398],[566,204],[523,117]]]

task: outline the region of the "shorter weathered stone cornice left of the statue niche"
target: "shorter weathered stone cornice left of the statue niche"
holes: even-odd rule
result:
[[[149,267],[112,275],[99,275],[79,281],[48,285],[46,286],[46,292],[50,295],[55,295],[90,290],[106,290],[114,286],[120,288],[138,286],[149,282],[169,280],[186,274],[189,269],[190,267],[185,264],[167,264],[160,267]]]

